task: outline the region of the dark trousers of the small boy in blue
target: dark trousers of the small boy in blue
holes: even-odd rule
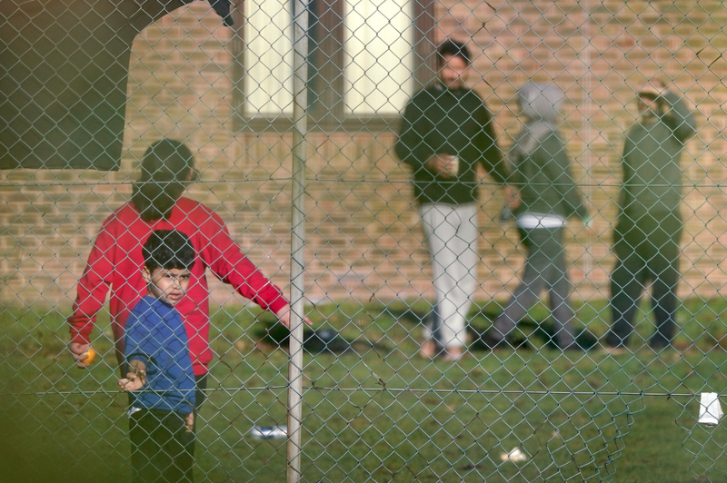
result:
[[[184,415],[142,409],[129,420],[133,483],[192,483],[194,432]]]

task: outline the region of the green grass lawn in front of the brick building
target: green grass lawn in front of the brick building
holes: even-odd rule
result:
[[[430,307],[355,301],[310,310],[352,342],[343,354],[304,357],[304,481],[600,481],[723,479],[727,436],[696,424],[698,402],[682,394],[727,392],[727,301],[686,301],[682,355],[643,346],[652,323],[639,320],[633,356],[564,356],[526,333],[531,350],[473,351],[459,364],[416,356],[419,319]],[[496,303],[473,311],[485,330]],[[543,320],[543,307],[531,320]],[[577,307],[603,336],[603,301]],[[258,322],[258,323],[255,323]],[[260,345],[267,314],[214,313],[209,399],[200,411],[197,481],[284,481],[284,440],[247,436],[285,424],[287,354]],[[0,467],[9,481],[126,481],[126,397],[108,321],[95,348],[104,357],[76,370],[65,352],[65,314],[0,314]],[[530,332],[534,324],[523,324]],[[522,448],[515,465],[501,455]],[[5,465],[6,463],[6,465]],[[5,481],[5,478],[2,478]]]

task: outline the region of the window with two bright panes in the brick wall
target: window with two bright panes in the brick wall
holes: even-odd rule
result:
[[[294,2],[245,0],[235,92],[250,129],[284,129],[293,113]],[[430,4],[431,5],[431,4]],[[308,114],[313,129],[385,128],[431,77],[431,6],[419,0],[310,0]]]

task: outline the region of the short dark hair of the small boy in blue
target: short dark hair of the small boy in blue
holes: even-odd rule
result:
[[[142,248],[144,266],[148,271],[190,270],[196,255],[192,242],[183,232],[157,230],[152,232]]]

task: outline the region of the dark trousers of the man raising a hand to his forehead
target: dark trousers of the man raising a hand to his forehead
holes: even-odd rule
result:
[[[612,328],[606,336],[610,347],[625,347],[633,332],[639,300],[652,282],[652,311],[656,332],[650,344],[664,347],[676,330],[679,243],[682,220],[676,213],[620,220],[614,231],[616,265],[611,274]]]

